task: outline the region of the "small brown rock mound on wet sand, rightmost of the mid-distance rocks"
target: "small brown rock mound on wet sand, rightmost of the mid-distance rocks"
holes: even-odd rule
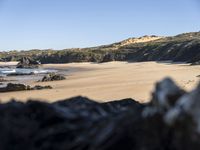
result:
[[[61,74],[49,73],[42,78],[42,82],[65,80],[65,76]]]

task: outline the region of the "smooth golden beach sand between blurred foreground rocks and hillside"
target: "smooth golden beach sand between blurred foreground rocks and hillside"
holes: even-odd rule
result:
[[[32,98],[53,102],[81,95],[100,102],[124,98],[147,102],[157,81],[172,77],[182,88],[191,90],[198,83],[197,75],[200,74],[200,66],[156,62],[69,63],[43,67],[67,69],[67,79],[40,83],[51,85],[51,90],[0,93],[1,101],[6,102],[11,98],[26,101]]]

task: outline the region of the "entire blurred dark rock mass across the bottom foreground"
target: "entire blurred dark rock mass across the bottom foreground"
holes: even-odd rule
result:
[[[199,98],[200,86],[187,93],[165,79],[148,104],[11,101],[0,104],[0,149],[199,150]]]

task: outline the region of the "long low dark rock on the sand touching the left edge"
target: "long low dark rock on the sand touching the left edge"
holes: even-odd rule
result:
[[[40,86],[36,85],[31,87],[25,84],[15,84],[15,83],[8,83],[6,87],[0,88],[0,92],[13,92],[13,91],[26,91],[26,90],[42,90],[42,89],[52,89],[51,86]]]

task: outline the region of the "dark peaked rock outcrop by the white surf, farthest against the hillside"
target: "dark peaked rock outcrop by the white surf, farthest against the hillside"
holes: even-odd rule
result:
[[[35,61],[28,57],[23,57],[20,59],[20,62],[17,64],[17,68],[38,68],[41,63],[39,61]]]

